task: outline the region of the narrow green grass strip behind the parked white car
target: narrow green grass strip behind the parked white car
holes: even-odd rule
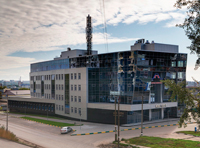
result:
[[[43,120],[43,119],[37,119],[37,118],[31,118],[31,117],[21,117],[22,119],[27,119],[31,121],[36,121],[44,124],[49,124],[49,125],[54,125],[54,126],[75,126],[74,124],[69,124],[69,123],[63,123],[63,122],[55,122],[55,121],[49,121],[49,120]]]

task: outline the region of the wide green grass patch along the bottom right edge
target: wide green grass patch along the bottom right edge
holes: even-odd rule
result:
[[[160,137],[135,137],[131,139],[124,139],[127,144],[136,144],[152,148],[171,148],[171,147],[184,147],[184,148],[199,148],[200,142],[182,139],[172,138],[160,138]]]

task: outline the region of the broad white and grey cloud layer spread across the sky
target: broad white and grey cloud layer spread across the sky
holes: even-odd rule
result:
[[[102,25],[103,1],[94,0],[1,0],[0,52],[4,61],[0,69],[27,66],[32,58],[9,57],[17,51],[49,51],[62,45],[85,44],[86,16],[93,18],[93,27]],[[183,19],[181,10],[173,5],[176,0],[108,0],[105,18],[108,25],[119,23],[160,22],[169,20],[172,27]],[[108,33],[108,43],[135,40],[137,37],[114,37]],[[103,44],[104,35],[93,33],[94,44]]]

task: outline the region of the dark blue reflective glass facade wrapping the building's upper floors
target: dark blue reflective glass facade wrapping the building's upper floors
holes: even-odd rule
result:
[[[144,103],[168,102],[168,88],[160,80],[184,81],[186,64],[187,54],[136,50],[31,64],[31,72],[88,67],[88,102],[113,103],[120,96],[122,104],[141,104],[142,96]]]

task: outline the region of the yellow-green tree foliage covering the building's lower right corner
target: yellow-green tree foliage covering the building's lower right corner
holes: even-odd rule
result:
[[[178,102],[184,103],[185,105],[183,114],[179,120],[180,127],[186,127],[187,125],[185,122],[190,122],[191,119],[194,119],[200,129],[200,87],[197,87],[196,90],[193,89],[191,91],[185,87],[185,81],[178,84],[176,84],[176,82],[173,80],[164,80],[163,82],[165,86],[169,88],[168,94],[171,94],[170,100],[177,101],[177,96]]]

